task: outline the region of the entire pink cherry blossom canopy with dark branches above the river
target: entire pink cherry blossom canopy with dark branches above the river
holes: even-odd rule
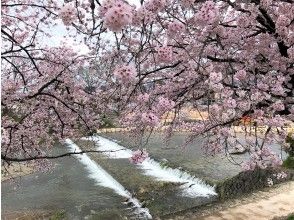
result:
[[[2,1],[2,158],[99,126],[111,108],[138,134],[181,129],[187,141],[203,136],[209,154],[243,145],[245,169],[281,164],[271,145],[289,147],[285,127],[294,120],[292,0],[13,2]],[[41,47],[41,34],[60,21],[87,56]],[[73,77],[83,65],[107,66],[95,91]],[[190,106],[202,120],[184,120]]]

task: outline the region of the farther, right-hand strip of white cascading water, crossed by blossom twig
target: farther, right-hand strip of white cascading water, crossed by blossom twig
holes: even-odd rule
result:
[[[132,156],[132,151],[130,149],[106,138],[91,136],[83,139],[95,141],[97,143],[97,150],[116,151],[103,153],[110,158],[130,158]],[[145,175],[153,176],[159,181],[182,183],[181,188],[183,189],[183,196],[195,198],[217,195],[213,186],[207,185],[200,179],[179,169],[162,167],[160,163],[151,158],[146,159],[137,166],[144,170]]]

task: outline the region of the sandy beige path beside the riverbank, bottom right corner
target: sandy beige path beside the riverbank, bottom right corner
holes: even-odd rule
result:
[[[201,216],[187,213],[173,219],[191,220],[271,220],[294,213],[294,181],[257,192],[232,204],[221,204]]]

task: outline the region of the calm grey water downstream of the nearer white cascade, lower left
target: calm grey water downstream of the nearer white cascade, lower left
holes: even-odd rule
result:
[[[121,219],[131,214],[122,203],[124,198],[88,178],[85,166],[74,157],[55,160],[54,164],[48,173],[2,182],[2,217],[10,211],[39,209],[64,210],[69,219],[95,219],[99,215],[103,218],[97,219]]]

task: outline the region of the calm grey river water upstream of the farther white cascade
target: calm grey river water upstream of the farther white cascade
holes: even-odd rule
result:
[[[139,145],[138,140],[130,138],[129,133],[107,133],[103,136],[128,148],[136,149]],[[226,157],[225,154],[207,156],[202,148],[201,138],[183,147],[186,138],[187,133],[178,132],[166,142],[162,133],[154,133],[149,137],[144,148],[158,161],[188,170],[191,174],[209,182],[218,182],[237,175],[242,169],[235,163],[241,163],[248,158],[247,154],[234,155],[231,158]],[[278,145],[273,145],[272,148],[277,153],[281,152]],[[283,157],[285,158],[284,152]]]

